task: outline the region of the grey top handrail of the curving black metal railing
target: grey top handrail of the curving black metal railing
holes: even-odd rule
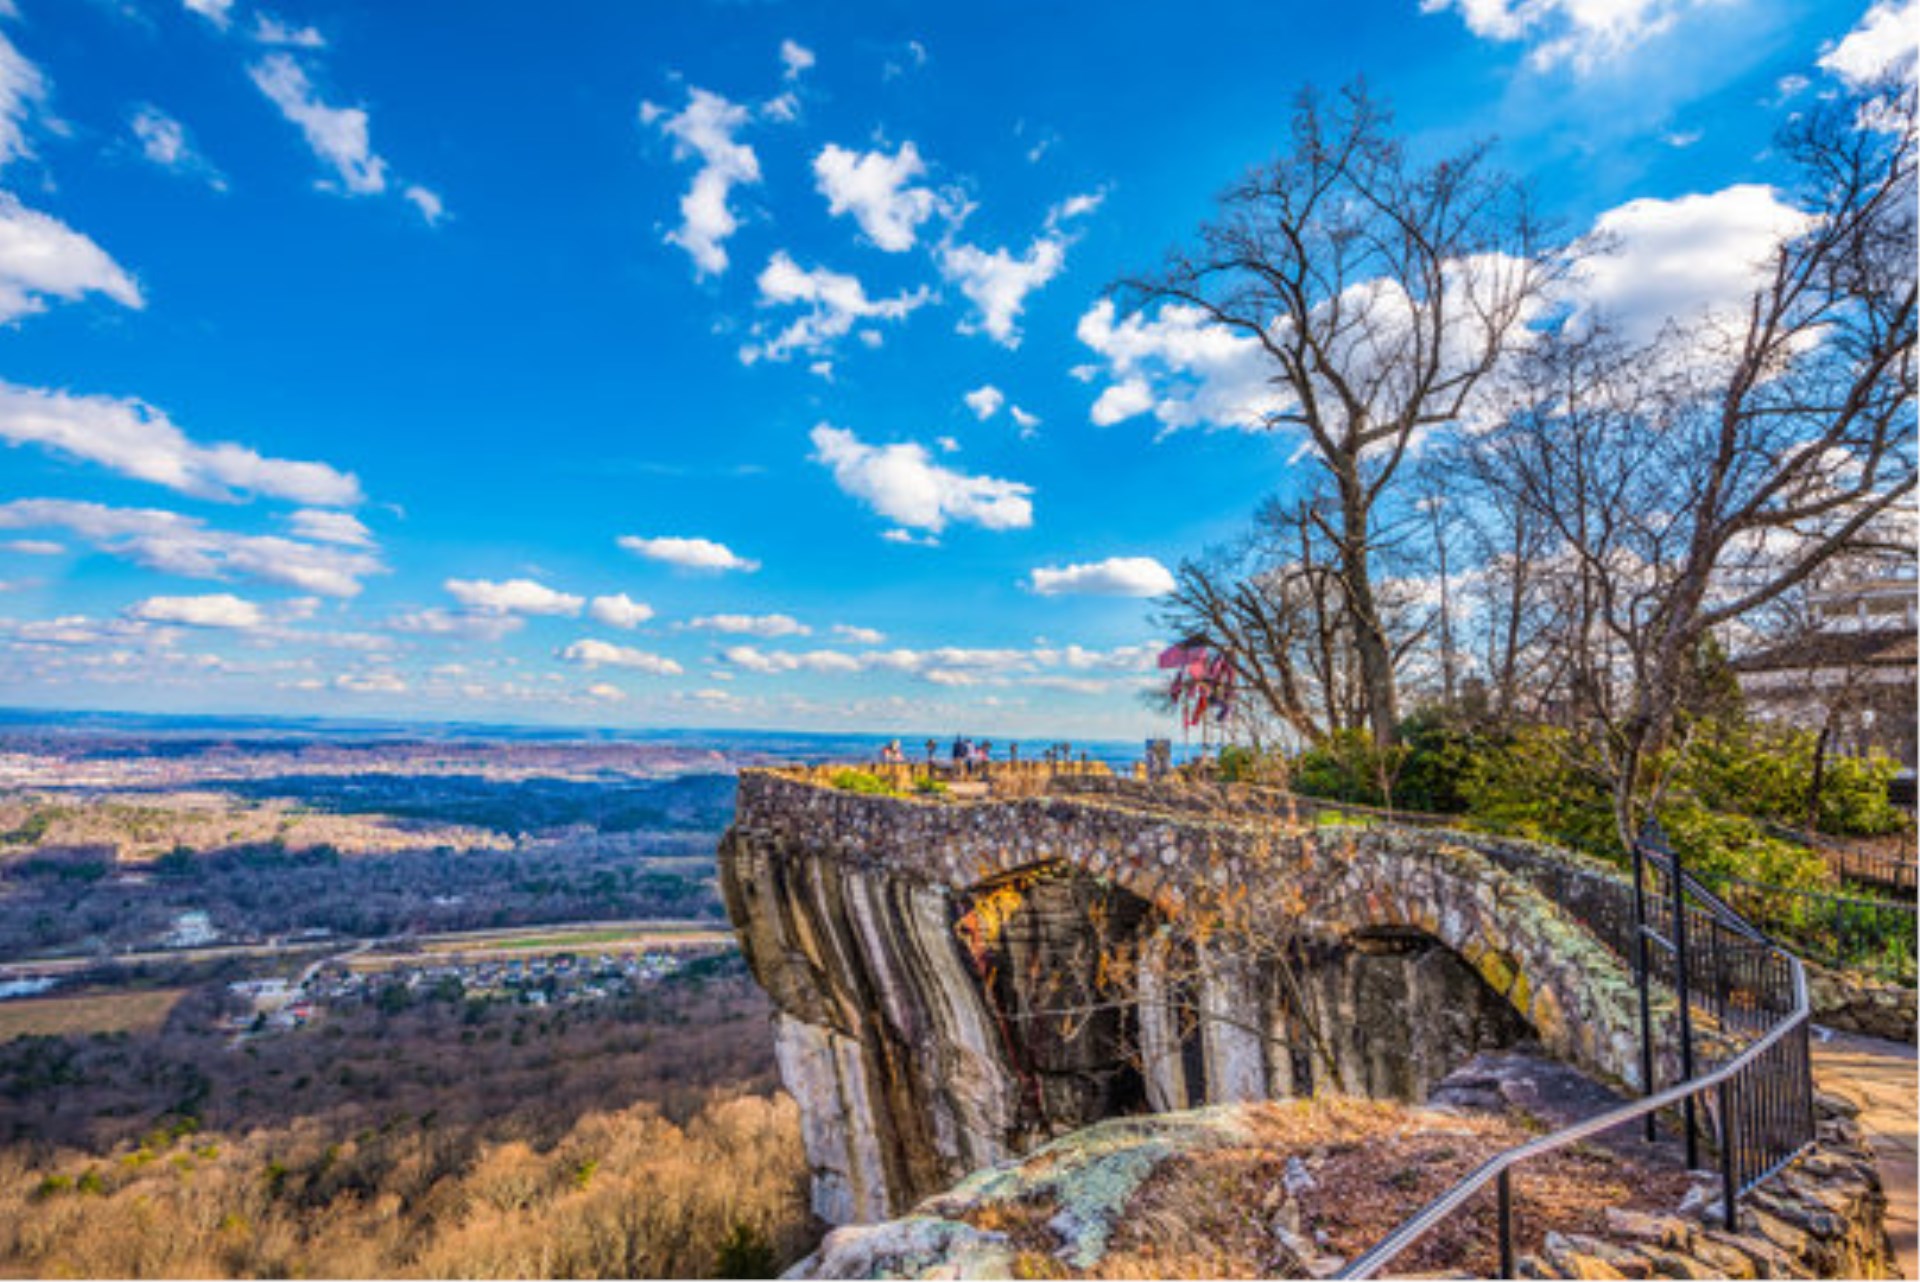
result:
[[[1668,864],[1667,869],[1668,869],[1668,875],[1672,871],[1676,871],[1676,869],[1672,869],[1672,864]],[[1400,1228],[1396,1228],[1392,1234],[1388,1234],[1386,1238],[1382,1238],[1379,1244],[1375,1244],[1359,1259],[1352,1261],[1346,1269],[1342,1269],[1334,1276],[1340,1276],[1340,1278],[1373,1278],[1373,1276],[1379,1276],[1380,1269],[1384,1269],[1386,1265],[1390,1265],[1407,1247],[1411,1247],[1415,1242],[1419,1242],[1421,1238],[1425,1238],[1442,1221],[1446,1221],[1453,1211],[1457,1211],[1469,1198],[1473,1198],[1475,1194],[1478,1194],[1480,1190],[1484,1190],[1488,1184],[1492,1184],[1496,1180],[1500,1184],[1498,1198],[1500,1198],[1500,1203],[1501,1203],[1501,1217],[1500,1217],[1500,1228],[1501,1228],[1501,1242],[1500,1242],[1501,1276],[1513,1276],[1513,1246],[1511,1246],[1511,1238],[1509,1238],[1509,1232],[1507,1232],[1507,1228],[1509,1228],[1509,1215],[1511,1215],[1511,1196],[1513,1196],[1511,1194],[1509,1173],[1513,1171],[1513,1167],[1521,1165],[1523,1161],[1528,1161],[1530,1157],[1538,1157],[1542,1153],[1551,1153],[1551,1151],[1567,1148],[1571,1144],[1578,1144],[1580,1140],[1586,1140],[1590,1136],[1613,1130],[1617,1127],[1624,1127],[1626,1123],[1640,1121],[1640,1119],[1651,1119],[1653,1113],[1657,1113],[1659,1109],[1670,1107],[1674,1104],[1690,1102],[1695,1096],[1699,1096],[1699,1094],[1703,1094],[1703,1092],[1707,1092],[1707,1090],[1711,1090],[1715,1086],[1722,1088],[1722,1104],[1724,1104],[1724,1088],[1726,1088],[1728,1082],[1732,1082],[1743,1071],[1747,1071],[1749,1067],[1753,1067],[1755,1061],[1759,1061],[1768,1050],[1772,1050],[1774,1046],[1778,1046],[1789,1033],[1793,1033],[1793,1031],[1805,1027],[1807,1023],[1811,1023],[1811,1019],[1812,1019],[1812,1002],[1811,1002],[1809,992],[1807,992],[1807,967],[1801,963],[1801,960],[1795,958],[1791,952],[1788,952],[1788,950],[1780,948],[1778,944],[1774,944],[1770,938],[1766,938],[1751,923],[1747,923],[1743,917],[1740,917],[1740,914],[1732,912],[1732,908],[1728,908],[1724,902],[1720,902],[1718,896],[1715,896],[1711,890],[1707,890],[1697,881],[1693,881],[1693,877],[1688,875],[1686,871],[1680,871],[1680,881],[1686,885],[1688,890],[1695,892],[1703,902],[1707,902],[1709,910],[1713,910],[1713,914],[1716,917],[1722,917],[1722,914],[1724,914],[1724,921],[1726,921],[1726,925],[1730,929],[1736,929],[1736,931],[1747,935],[1753,942],[1764,944],[1768,948],[1768,952],[1776,954],[1778,958],[1782,958],[1788,963],[1788,969],[1789,969],[1789,973],[1793,977],[1793,1009],[1788,1013],[1788,1017],[1782,1019],[1778,1025],[1774,1025],[1763,1038],[1759,1038],[1757,1042],[1753,1042],[1751,1046],[1747,1046],[1741,1054],[1738,1054],[1736,1057],[1728,1059],[1726,1063],[1722,1063],[1720,1067],[1713,1069],[1711,1073],[1705,1073],[1705,1075],[1699,1075],[1699,1077],[1692,1077],[1692,1079],[1688,1079],[1684,1082],[1676,1082],[1676,1084],[1668,1086],[1667,1090],[1651,1094],[1651,1096],[1647,1096],[1644,1100],[1636,1100],[1632,1104],[1624,1104],[1624,1105],[1620,1105],[1617,1109],[1611,1109],[1607,1113],[1599,1113],[1597,1117],[1590,1117],[1586,1121],[1572,1123],[1571,1127],[1555,1130],[1553,1134],[1546,1134],[1546,1136],[1540,1136],[1538,1140],[1528,1140],[1526,1144],[1521,1144],[1517,1148],[1509,1148],[1503,1153],[1496,1153],[1494,1157],[1490,1157],[1484,1163],[1480,1163],[1478,1167],[1475,1167],[1475,1171],[1469,1173],[1459,1184],[1455,1184],[1448,1192],[1444,1192],[1438,1198],[1434,1198],[1413,1219],[1409,1219],[1404,1224],[1400,1224]],[[1722,1109],[1722,1117],[1724,1115],[1726,1115],[1726,1111]],[[1732,1226],[1732,1223],[1734,1223],[1734,1207],[1736,1207],[1738,1198],[1740,1198],[1740,1188],[1738,1188],[1738,1184],[1734,1180],[1732,1159],[1726,1153],[1728,1148],[1730,1148],[1728,1140],[1726,1140],[1726,1136],[1722,1136],[1722,1171],[1724,1171],[1722,1198],[1726,1199],[1724,1215],[1728,1219],[1728,1224]],[[1763,1171],[1755,1180],[1749,1182],[1749,1186],[1757,1184],[1759,1180],[1763,1180],[1763,1178],[1770,1176],[1772,1173],[1776,1173],[1788,1161],[1791,1161],[1801,1151],[1805,1151],[1805,1148],[1807,1146],[1801,1144],[1801,1148],[1793,1150],[1782,1161],[1778,1161],[1772,1167],[1768,1167],[1766,1171]]]

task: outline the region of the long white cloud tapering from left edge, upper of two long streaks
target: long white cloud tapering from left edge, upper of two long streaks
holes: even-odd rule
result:
[[[202,499],[244,491],[317,507],[361,501],[351,472],[269,459],[244,445],[196,445],[165,413],[134,399],[0,382],[0,439],[42,445]]]

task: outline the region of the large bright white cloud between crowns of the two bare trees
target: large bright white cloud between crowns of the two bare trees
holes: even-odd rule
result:
[[[1574,322],[1649,342],[1668,319],[1738,317],[1780,240],[1805,228],[1807,215],[1757,184],[1609,209],[1592,232],[1601,251],[1565,284]]]

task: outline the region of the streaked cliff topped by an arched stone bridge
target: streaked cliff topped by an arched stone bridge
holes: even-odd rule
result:
[[[899,1215],[1114,1113],[1421,1100],[1528,1038],[1636,1084],[1632,977],[1500,843],[1071,785],[950,800],[741,773],[720,881],[822,1219]]]

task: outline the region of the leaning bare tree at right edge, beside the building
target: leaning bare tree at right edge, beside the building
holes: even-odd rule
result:
[[[1782,138],[1805,230],[1743,315],[1649,349],[1546,336],[1488,474],[1551,532],[1557,653],[1599,727],[1622,843],[1695,693],[1703,641],[1914,493],[1914,92],[1834,102]]]

